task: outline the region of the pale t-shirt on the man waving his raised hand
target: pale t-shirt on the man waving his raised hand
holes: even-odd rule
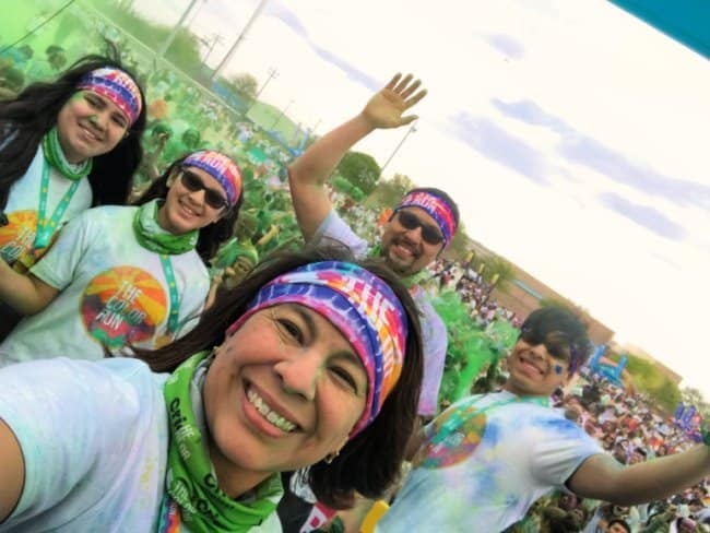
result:
[[[319,245],[344,245],[355,257],[367,256],[367,241],[331,210],[320,224],[312,238]],[[412,297],[419,309],[422,337],[424,344],[424,380],[417,413],[434,416],[438,412],[439,386],[443,376],[443,365],[448,347],[447,330],[441,318],[434,310],[426,292],[418,286],[411,288]]]

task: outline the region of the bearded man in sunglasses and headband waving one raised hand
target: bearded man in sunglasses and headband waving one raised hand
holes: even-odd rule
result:
[[[327,180],[345,153],[376,129],[405,126],[416,116],[403,116],[426,91],[409,74],[397,74],[376,93],[353,119],[318,139],[288,167],[291,194],[306,241],[342,244],[356,256],[381,256],[410,287],[422,312],[424,380],[418,414],[422,419],[436,415],[437,396],[447,352],[447,330],[418,286],[418,274],[451,242],[459,223],[459,210],[449,196],[435,188],[414,189],[393,210],[379,242],[370,246],[336,214],[330,201]],[[284,521],[288,533],[293,524]],[[301,522],[303,523],[303,522]],[[298,531],[298,529],[295,529]]]

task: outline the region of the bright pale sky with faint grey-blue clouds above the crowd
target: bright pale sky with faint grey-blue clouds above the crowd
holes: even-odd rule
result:
[[[189,0],[135,2],[175,23]],[[214,67],[257,0],[198,0]],[[710,24],[710,21],[709,21]],[[206,51],[206,50],[205,50]],[[395,72],[429,94],[384,176],[458,201],[469,235],[710,399],[710,64],[602,0],[269,0],[227,73],[322,134]],[[406,129],[356,146],[380,165]]]

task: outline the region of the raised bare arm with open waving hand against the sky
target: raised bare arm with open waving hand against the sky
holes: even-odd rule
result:
[[[403,114],[426,95],[412,74],[397,74],[357,116],[326,133],[288,167],[291,196],[298,226],[310,240],[332,205],[324,185],[345,153],[376,129],[399,128],[416,120]]]

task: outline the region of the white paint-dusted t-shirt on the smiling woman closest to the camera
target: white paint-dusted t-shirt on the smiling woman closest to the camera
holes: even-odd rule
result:
[[[154,532],[165,494],[163,386],[143,362],[57,358],[0,369],[0,418],[25,462],[0,532]],[[279,532],[272,513],[251,531]],[[188,532],[182,524],[180,532]]]

